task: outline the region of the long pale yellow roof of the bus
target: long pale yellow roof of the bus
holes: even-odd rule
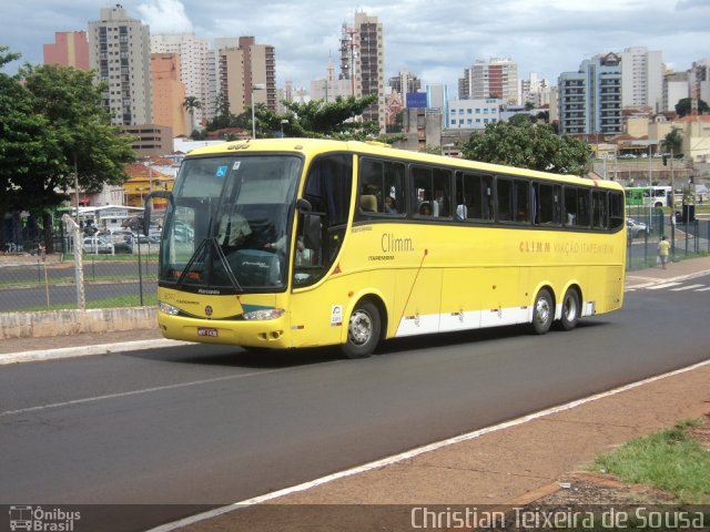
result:
[[[483,163],[478,161],[469,161],[465,158],[455,158],[445,155],[434,155],[424,152],[412,152],[408,150],[399,150],[379,142],[361,142],[361,141],[333,141],[323,139],[260,139],[256,141],[234,141],[222,144],[213,144],[211,146],[199,147],[191,151],[187,157],[201,155],[225,154],[230,152],[294,152],[302,153],[308,157],[326,153],[326,152],[353,152],[374,156],[387,156],[402,161],[420,162],[428,164],[442,164],[446,166],[455,166],[457,168],[468,168],[471,171],[490,172],[497,174],[516,175],[524,177],[540,177],[550,181],[560,181],[565,183],[574,183],[587,185],[594,183],[595,186],[605,188],[622,190],[621,185],[612,181],[591,180],[579,177],[576,175],[554,174],[549,172],[539,172],[528,168],[519,168],[515,166],[506,166],[501,164]]]

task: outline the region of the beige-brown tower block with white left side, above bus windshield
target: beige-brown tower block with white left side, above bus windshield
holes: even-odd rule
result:
[[[230,112],[242,114],[255,104],[276,111],[276,53],[274,47],[256,44],[253,37],[216,39],[217,92],[230,102]],[[255,90],[263,85],[265,89]]]

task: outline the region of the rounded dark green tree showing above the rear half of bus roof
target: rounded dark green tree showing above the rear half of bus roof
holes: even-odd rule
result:
[[[464,158],[506,164],[557,174],[582,175],[590,162],[589,146],[577,139],[557,135],[549,125],[519,119],[517,123],[488,124],[464,144]]]

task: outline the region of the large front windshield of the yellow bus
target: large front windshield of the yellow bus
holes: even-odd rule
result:
[[[285,289],[303,160],[189,158],[165,213],[159,280],[204,293]]]

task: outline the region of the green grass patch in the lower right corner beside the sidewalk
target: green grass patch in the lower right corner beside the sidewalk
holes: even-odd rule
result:
[[[670,429],[630,440],[597,457],[592,468],[623,482],[663,490],[680,504],[710,504],[710,451],[690,434],[700,423],[681,420]]]

